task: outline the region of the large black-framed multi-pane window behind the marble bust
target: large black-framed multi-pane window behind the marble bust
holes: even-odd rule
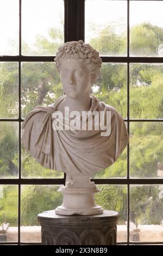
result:
[[[0,8],[0,243],[40,243],[37,214],[62,202],[65,175],[27,154],[21,124],[63,94],[55,53],[83,39],[103,60],[92,93],[117,109],[130,135],[93,179],[96,202],[120,212],[118,243],[163,244],[163,1],[2,0]]]

